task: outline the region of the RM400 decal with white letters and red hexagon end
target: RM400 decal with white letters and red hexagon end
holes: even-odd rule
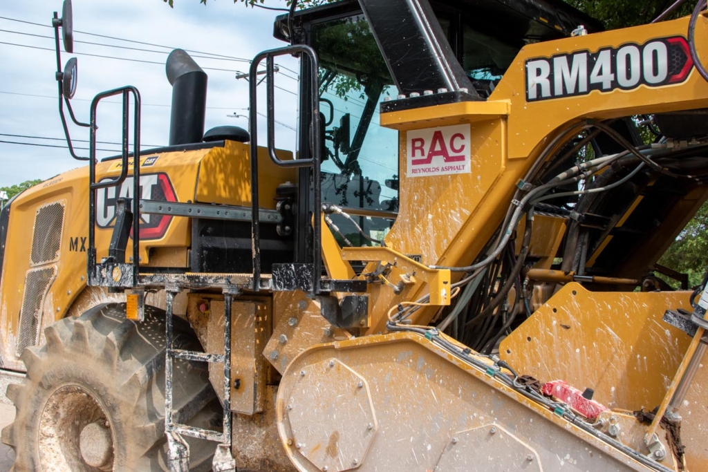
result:
[[[598,52],[580,51],[526,60],[526,100],[680,84],[693,68],[685,38],[659,38]]]

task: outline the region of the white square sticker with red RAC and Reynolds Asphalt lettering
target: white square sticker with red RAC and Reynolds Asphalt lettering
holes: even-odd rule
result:
[[[408,176],[470,173],[469,125],[408,132]]]

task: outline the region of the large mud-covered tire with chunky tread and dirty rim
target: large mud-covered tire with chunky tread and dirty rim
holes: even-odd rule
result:
[[[96,306],[45,330],[47,343],[23,352],[27,380],[8,387],[15,422],[2,441],[13,471],[163,471],[165,313],[125,319],[125,304]],[[174,319],[175,347],[198,349],[188,323]],[[176,421],[220,430],[221,407],[204,363],[176,360]],[[209,471],[216,444],[190,440],[190,466]]]

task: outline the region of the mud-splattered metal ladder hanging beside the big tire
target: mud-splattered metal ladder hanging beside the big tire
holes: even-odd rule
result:
[[[207,441],[218,442],[215,454],[214,470],[236,471],[236,461],[231,454],[231,308],[234,293],[224,289],[224,354],[210,354],[190,350],[173,349],[173,301],[179,287],[169,287],[166,290],[166,320],[165,320],[165,434],[167,436],[167,461],[170,472],[189,471],[189,448],[183,436]],[[224,363],[224,430],[223,432],[205,430],[199,427],[183,425],[173,421],[173,359],[184,359],[196,362]],[[218,459],[217,459],[218,458]],[[219,464],[217,464],[217,461]]]

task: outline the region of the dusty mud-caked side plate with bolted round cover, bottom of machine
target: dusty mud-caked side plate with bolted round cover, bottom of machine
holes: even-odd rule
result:
[[[338,375],[343,372],[338,369],[338,362],[346,364],[364,379],[362,382],[372,386],[370,398],[377,423],[368,427],[361,425],[360,420],[351,422],[346,430],[339,430],[329,438],[312,438],[298,444],[294,440],[298,431],[294,431],[291,422],[294,415],[315,424],[322,421],[323,411],[336,410],[338,396],[367,393],[363,385],[351,385]],[[321,369],[329,371],[316,375]],[[304,386],[307,382],[311,385]],[[313,404],[312,389],[318,386],[321,391],[337,393],[329,395],[329,401],[320,398],[316,402],[318,408],[308,408]],[[329,446],[331,454],[339,456],[338,439],[354,434],[360,442],[374,436],[367,453],[355,458],[357,471],[433,471],[444,451],[464,443],[462,432],[477,427],[486,427],[486,444],[492,444],[492,434],[495,437],[504,434],[499,427],[513,432],[537,452],[535,464],[543,471],[649,471],[549,408],[412,333],[313,345],[293,359],[284,372],[276,413],[282,445],[302,472],[315,470],[305,457],[310,452]],[[491,431],[493,427],[496,429]],[[492,448],[493,459],[508,453],[508,446],[501,448]],[[302,454],[303,449],[306,454]],[[520,463],[504,464],[503,469],[498,466],[501,460],[490,464],[493,459],[486,449],[479,447],[474,454],[460,456],[455,470],[533,470],[526,454]],[[346,459],[345,464],[353,464],[351,457]],[[480,464],[485,467],[479,467]]]

